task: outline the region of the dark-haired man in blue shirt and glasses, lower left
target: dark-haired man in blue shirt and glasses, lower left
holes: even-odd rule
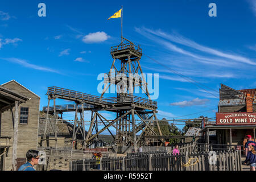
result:
[[[37,150],[27,151],[27,163],[20,166],[18,171],[35,171],[34,166],[38,164],[38,160],[40,157],[38,153],[39,151]]]

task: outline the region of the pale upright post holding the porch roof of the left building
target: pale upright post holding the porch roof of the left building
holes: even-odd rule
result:
[[[13,171],[16,171],[17,144],[18,144],[18,121],[19,121],[19,102],[15,101],[14,115],[14,137],[13,137]]]

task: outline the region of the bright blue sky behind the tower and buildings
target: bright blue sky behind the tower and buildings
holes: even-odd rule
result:
[[[46,17],[38,16],[40,2],[46,4]],[[212,2],[217,17],[208,15]],[[145,55],[203,84],[199,88],[143,56],[143,71],[159,73],[158,118],[215,117],[220,83],[256,88],[253,0],[1,1],[0,83],[20,82],[41,97],[40,109],[47,105],[49,86],[100,96],[97,76],[109,72],[110,47],[121,36],[120,18],[107,19],[121,5],[125,38],[141,44]],[[66,117],[72,119],[73,113]]]

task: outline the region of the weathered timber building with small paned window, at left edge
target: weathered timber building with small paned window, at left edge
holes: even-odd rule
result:
[[[15,170],[26,162],[26,152],[38,147],[40,97],[15,80],[2,84],[1,88],[10,90],[15,97],[23,97],[23,102],[16,101],[19,104],[15,108],[10,105],[0,115],[0,136],[9,139],[5,170]]]

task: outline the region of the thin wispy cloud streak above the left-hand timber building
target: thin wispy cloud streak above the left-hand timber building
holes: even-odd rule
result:
[[[31,64],[31,63],[28,63],[27,60],[18,59],[18,58],[1,58],[1,59],[9,61],[11,63],[22,65],[22,67],[27,67],[27,68],[31,68],[31,69],[40,70],[40,71],[53,72],[53,73],[59,73],[60,74],[60,72],[56,71],[55,69],[46,68],[46,67],[42,67],[40,65]]]

